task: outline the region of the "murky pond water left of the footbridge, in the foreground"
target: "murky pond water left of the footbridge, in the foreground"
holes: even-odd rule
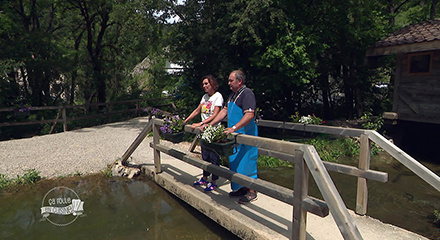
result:
[[[238,239],[144,178],[98,174],[43,179],[32,186],[3,191],[0,239]],[[57,187],[71,189],[84,202],[84,214],[66,226],[54,225],[41,215],[43,199]]]

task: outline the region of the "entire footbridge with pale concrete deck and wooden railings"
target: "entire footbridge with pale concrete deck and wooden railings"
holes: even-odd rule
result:
[[[125,162],[153,131],[153,162],[142,170],[153,181],[198,209],[243,239],[425,239],[404,229],[383,224],[366,216],[368,181],[388,181],[388,174],[369,169],[370,144],[376,143],[416,175],[440,191],[440,177],[403,152],[375,131],[321,125],[303,125],[275,121],[259,121],[259,126],[358,137],[361,148],[359,166],[324,162],[311,145],[235,134],[237,143],[256,146],[259,154],[294,163],[294,189],[230,171],[204,162],[161,143],[159,128],[163,120],[152,119],[122,156]],[[188,133],[198,134],[185,126]],[[195,142],[193,143],[193,145]],[[193,149],[193,146],[192,148]],[[161,153],[174,158],[162,161]],[[148,156],[146,156],[147,158]],[[206,194],[192,186],[200,178],[201,169],[219,175],[219,188]],[[356,212],[348,210],[333,183],[329,171],[358,178]],[[313,177],[324,200],[308,195],[309,179]],[[229,181],[255,189],[259,200],[247,205],[230,199]]]

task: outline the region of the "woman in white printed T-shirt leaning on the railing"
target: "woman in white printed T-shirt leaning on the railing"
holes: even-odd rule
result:
[[[184,124],[199,115],[199,113],[201,114],[202,121],[200,123],[193,123],[191,125],[192,128],[202,127],[203,125],[210,123],[217,116],[223,106],[223,96],[217,91],[218,87],[219,85],[214,76],[208,75],[202,78],[202,89],[206,94],[203,95],[199,106],[183,121]],[[220,157],[217,153],[207,149],[203,142],[201,148],[203,160],[211,162],[217,166],[220,165]],[[210,172],[203,170],[203,176],[194,183],[194,186],[207,185],[205,188],[206,192],[216,189],[218,176],[212,174],[211,182],[208,183],[208,177],[210,175]]]

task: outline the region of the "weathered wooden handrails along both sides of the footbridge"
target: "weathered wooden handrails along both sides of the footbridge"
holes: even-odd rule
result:
[[[211,172],[216,173],[219,176],[225,177],[229,180],[234,176],[234,181],[239,182],[244,186],[252,186],[257,191],[261,191],[265,194],[269,192],[269,196],[279,199],[277,194],[273,194],[270,191],[267,191],[267,187],[265,188],[260,183],[264,183],[265,181],[255,181],[255,179],[246,179],[246,176],[240,176],[241,174],[230,173],[223,174],[225,169],[221,167],[217,167],[212,164],[203,163],[197,159],[191,159],[186,156],[186,154],[178,152],[174,149],[169,149],[160,144],[159,140],[159,127],[163,125],[163,120],[153,119],[150,121],[148,131],[153,129],[153,143],[151,146],[155,149],[154,151],[154,161],[156,166],[156,172],[161,172],[160,166],[160,152],[165,152],[170,154],[171,156],[175,156],[181,160],[188,161],[193,165],[203,168]],[[388,180],[388,174],[372,171],[369,169],[370,166],[370,141],[373,141],[378,146],[382,147],[385,151],[387,151],[390,155],[395,157],[399,162],[408,167],[411,171],[421,177],[424,181],[429,183],[435,189],[440,189],[440,178],[433,173],[431,170],[417,162],[414,158],[406,154],[404,151],[399,149],[393,143],[385,139],[376,131],[372,130],[363,130],[363,129],[353,129],[353,128],[341,128],[341,127],[329,127],[322,125],[305,125],[305,124],[296,124],[296,123],[286,123],[286,122],[276,122],[276,121],[267,121],[260,120],[259,126],[266,127],[275,127],[275,128],[284,128],[290,130],[300,130],[306,132],[316,132],[316,133],[327,133],[341,136],[350,136],[350,137],[359,137],[361,143],[360,149],[360,160],[359,160],[359,168],[346,166],[342,164],[329,163],[324,162],[319,157],[316,149],[307,144],[293,143],[287,141],[274,140],[269,138],[262,138],[256,136],[249,136],[243,134],[234,134],[237,143],[246,144],[251,146],[256,146],[259,148],[260,154],[274,156],[280,159],[284,159],[287,161],[293,161],[295,163],[295,186],[294,186],[294,197],[293,204],[295,206],[299,206],[294,208],[294,220],[293,220],[293,231],[292,238],[293,239],[305,239],[306,230],[305,230],[305,219],[307,211],[310,211],[310,206],[313,203],[306,201],[311,198],[308,194],[308,174],[309,172],[312,174],[315,182],[318,185],[318,188],[321,191],[322,196],[324,197],[326,203],[328,204],[330,212],[332,213],[335,222],[338,225],[339,230],[345,239],[362,239],[362,236],[359,233],[356,225],[354,224],[351,216],[348,213],[348,210],[339,195],[333,181],[331,180],[328,171],[337,171],[342,172],[344,174],[349,174],[358,177],[358,199],[356,212],[358,214],[366,213],[366,203],[368,198],[367,191],[367,179],[386,182]],[[144,136],[148,132],[144,129]],[[191,133],[200,133],[198,129],[192,129],[190,125],[185,126],[185,131]],[[142,134],[141,134],[142,135]],[[140,141],[140,136],[132,145],[138,145]],[[136,143],[137,142],[137,143]],[[136,144],[135,144],[136,143]],[[135,148],[135,147],[134,147]],[[134,151],[132,146],[127,150],[127,152]],[[129,154],[124,154],[126,157]],[[131,154],[131,153],[130,153]],[[179,157],[180,156],[180,157]],[[299,157],[300,156],[300,157]],[[186,159],[186,160],[185,160]],[[228,170],[229,171],[229,170]],[[222,173],[223,172],[223,173]],[[229,174],[229,177],[228,177]],[[258,180],[258,179],[257,179]],[[262,182],[261,182],[262,181]],[[270,183],[269,183],[270,184]],[[440,191],[440,190],[439,190]],[[314,200],[315,201],[315,200]],[[291,201],[290,201],[291,202]],[[316,202],[315,202],[316,203]],[[308,205],[308,206],[307,206]],[[316,206],[315,206],[316,207]],[[319,207],[319,204],[318,204]],[[322,206],[321,206],[322,207]],[[312,210],[313,211],[313,210]],[[310,211],[310,212],[312,212]],[[320,216],[319,214],[317,214]]]

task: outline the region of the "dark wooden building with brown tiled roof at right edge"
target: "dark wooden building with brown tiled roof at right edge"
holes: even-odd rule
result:
[[[440,124],[440,20],[406,26],[367,56],[396,55],[393,112],[384,118]]]

